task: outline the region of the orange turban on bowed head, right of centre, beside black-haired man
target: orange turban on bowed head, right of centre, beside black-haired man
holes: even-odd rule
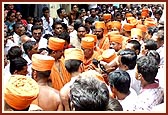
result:
[[[109,63],[112,60],[114,60],[114,58],[116,58],[117,55],[114,49],[107,49],[103,51],[101,56],[102,56],[102,61]]]

